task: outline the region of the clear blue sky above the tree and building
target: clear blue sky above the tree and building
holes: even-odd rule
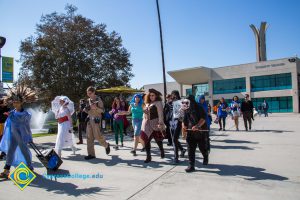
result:
[[[68,3],[120,33],[131,53],[133,87],[162,82],[155,0],[0,0],[0,35],[7,38],[2,55],[18,59],[20,41],[34,35],[41,15],[64,12]],[[255,62],[249,25],[261,21],[269,24],[268,59],[299,57],[299,9],[298,0],[160,0],[166,70]],[[17,75],[20,64],[15,67]]]

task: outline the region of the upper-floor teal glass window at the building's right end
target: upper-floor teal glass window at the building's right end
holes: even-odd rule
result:
[[[292,88],[291,73],[253,76],[250,78],[251,92],[266,90],[285,90]]]

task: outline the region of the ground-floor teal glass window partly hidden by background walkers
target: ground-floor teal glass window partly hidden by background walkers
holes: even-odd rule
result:
[[[258,109],[264,100],[269,104],[269,112],[293,112],[293,98],[292,97],[270,97],[270,98],[254,98],[253,105]]]

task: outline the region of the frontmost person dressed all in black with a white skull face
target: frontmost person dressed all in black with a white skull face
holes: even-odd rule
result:
[[[195,152],[197,146],[203,155],[203,165],[208,164],[208,127],[206,123],[206,114],[200,107],[193,95],[187,97],[189,103],[184,112],[183,130],[187,132],[186,141],[188,144],[189,166],[185,169],[186,172],[195,171]]]

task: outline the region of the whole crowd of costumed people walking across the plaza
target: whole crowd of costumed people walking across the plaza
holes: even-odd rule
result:
[[[94,141],[97,140],[104,147],[106,154],[110,153],[110,144],[106,141],[101,131],[101,118],[104,113],[104,105],[100,97],[96,95],[94,87],[87,88],[87,100],[80,101],[77,118],[79,121],[79,141],[78,145],[83,144],[83,132],[87,136],[87,155],[86,160],[96,158]],[[23,96],[22,96],[23,95]],[[28,98],[28,97],[31,97]],[[24,103],[33,102],[34,93],[15,94],[12,93],[8,100],[12,103],[14,109],[10,112],[7,106],[0,102],[0,109],[3,111],[0,116],[0,150],[2,151],[0,159],[6,156],[6,165],[4,172],[0,177],[7,178],[10,166],[23,160],[31,169],[31,153],[27,143],[32,142],[31,131],[29,127],[30,113],[23,109]],[[109,112],[113,116],[113,127],[115,133],[114,148],[116,150],[124,145],[124,118],[126,115],[132,115],[132,126],[134,130],[134,143],[131,153],[137,155],[138,144],[146,151],[145,163],[152,161],[151,141],[155,140],[160,157],[165,158],[163,140],[168,140],[168,146],[173,147],[173,164],[179,163],[179,158],[185,156],[188,152],[189,165],[186,172],[195,170],[195,151],[198,147],[203,156],[203,164],[207,165],[210,153],[209,131],[212,123],[211,106],[206,102],[205,96],[201,95],[197,101],[193,95],[181,99],[178,91],[174,90],[166,97],[167,102],[162,101],[162,94],[149,89],[147,94],[135,94],[126,108],[120,98],[116,97],[112,103],[112,109]],[[69,98],[61,96],[59,99],[59,109],[55,113],[58,121],[58,134],[56,138],[55,150],[61,157],[62,150],[70,147],[73,154],[76,153],[76,147],[73,137],[73,114],[68,105]],[[6,107],[5,107],[6,106]],[[237,96],[233,97],[228,105],[224,98],[220,99],[217,105],[217,123],[220,125],[220,131],[225,131],[226,118],[232,116],[236,130],[239,130],[239,117],[242,115],[245,124],[245,130],[251,130],[253,118],[253,103],[249,95],[245,96],[243,102],[239,101]],[[3,127],[5,120],[5,127]],[[4,130],[4,131],[3,131]],[[7,132],[7,133],[6,133]],[[186,139],[187,150],[179,141],[180,136]],[[119,140],[120,139],[120,140]],[[17,148],[19,147],[19,148]],[[17,160],[18,159],[18,160]]]

